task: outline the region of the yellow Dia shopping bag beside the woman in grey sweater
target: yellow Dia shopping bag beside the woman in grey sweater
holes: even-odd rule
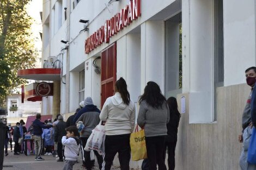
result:
[[[135,130],[135,133],[131,133],[130,146],[133,161],[148,158],[144,130]]]

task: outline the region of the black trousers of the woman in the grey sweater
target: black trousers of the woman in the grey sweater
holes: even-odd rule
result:
[[[150,170],[156,170],[156,165],[159,166],[159,170],[167,170],[163,159],[164,140],[165,136],[146,137]]]

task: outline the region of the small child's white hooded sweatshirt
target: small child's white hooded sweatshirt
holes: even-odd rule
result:
[[[77,142],[74,138],[66,138],[66,136],[62,137],[62,144],[65,146],[65,160],[76,161],[80,149],[80,144],[77,145]]]

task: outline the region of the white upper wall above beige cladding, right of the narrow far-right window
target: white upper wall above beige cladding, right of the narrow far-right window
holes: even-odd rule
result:
[[[224,86],[245,83],[255,66],[255,1],[224,0]]]

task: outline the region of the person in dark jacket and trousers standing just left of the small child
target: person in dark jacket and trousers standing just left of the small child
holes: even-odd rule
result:
[[[54,142],[58,143],[57,153],[59,159],[57,162],[63,162],[62,136],[66,135],[66,122],[63,121],[63,116],[58,116],[59,123],[54,128]]]

